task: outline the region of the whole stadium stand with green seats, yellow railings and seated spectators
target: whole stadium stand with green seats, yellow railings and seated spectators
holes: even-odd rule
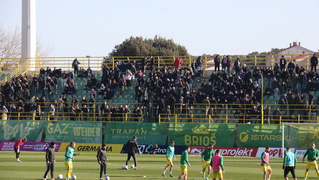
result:
[[[302,66],[288,57],[287,66],[256,56],[54,59],[1,75],[2,119],[318,123],[319,75],[307,72],[309,57]]]

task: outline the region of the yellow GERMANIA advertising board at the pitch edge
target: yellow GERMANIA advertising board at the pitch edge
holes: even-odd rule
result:
[[[70,143],[62,143],[59,152],[65,152]],[[106,144],[106,153],[121,153],[123,144]],[[74,152],[96,152],[101,149],[101,144],[76,143]]]

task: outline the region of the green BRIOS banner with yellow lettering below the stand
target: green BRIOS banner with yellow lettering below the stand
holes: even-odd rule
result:
[[[232,124],[170,124],[168,142],[175,145],[233,147],[235,125]]]

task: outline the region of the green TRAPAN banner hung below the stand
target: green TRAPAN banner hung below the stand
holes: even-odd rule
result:
[[[133,136],[138,138],[139,144],[165,145],[166,123],[106,123],[106,144],[126,144]]]

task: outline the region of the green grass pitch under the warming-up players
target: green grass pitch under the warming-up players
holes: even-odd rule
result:
[[[63,174],[65,177],[65,167],[63,163],[63,152],[56,152],[56,164],[54,177]],[[117,179],[176,179],[180,174],[179,158],[173,168],[174,177],[163,177],[161,173],[166,165],[165,155],[137,155],[138,170],[122,170],[125,164],[126,154],[107,154],[109,162],[107,164],[107,174],[111,180]],[[20,153],[22,163],[15,162],[15,153],[10,151],[0,151],[0,179],[42,179],[45,171],[45,152],[24,152]],[[188,167],[188,179],[201,179],[200,156],[190,156],[191,167]],[[299,179],[303,179],[306,164],[298,159],[296,174]],[[131,159],[129,166],[133,164]],[[270,159],[270,166],[273,174],[271,179],[284,179],[282,170],[282,159]],[[259,158],[233,158],[224,157],[225,174],[224,179],[262,179],[262,170]],[[75,156],[73,161],[73,173],[79,179],[99,179],[100,165],[97,163],[96,153],[82,153]],[[166,172],[169,175],[169,171]],[[146,177],[143,177],[146,176]],[[50,176],[50,172],[48,174]],[[103,177],[104,178],[104,177]],[[310,169],[309,179],[317,179],[313,169]],[[212,179],[212,177],[210,177]],[[292,179],[289,174],[289,179]]]

